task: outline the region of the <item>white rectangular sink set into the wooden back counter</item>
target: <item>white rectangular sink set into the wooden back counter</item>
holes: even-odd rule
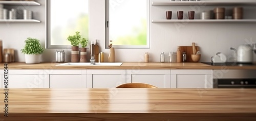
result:
[[[95,63],[95,65],[91,65],[91,63],[65,63],[56,66],[121,66],[122,64],[123,63]]]

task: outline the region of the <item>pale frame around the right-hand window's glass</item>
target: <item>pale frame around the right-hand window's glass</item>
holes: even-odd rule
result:
[[[105,49],[109,48],[109,1],[111,0],[105,0]],[[147,24],[147,34],[146,34],[146,45],[113,45],[112,47],[114,48],[141,48],[141,49],[145,49],[145,48],[150,48],[150,1],[146,1],[146,9],[147,9],[147,17],[146,17],[146,24]],[[135,3],[136,4],[136,3]]]

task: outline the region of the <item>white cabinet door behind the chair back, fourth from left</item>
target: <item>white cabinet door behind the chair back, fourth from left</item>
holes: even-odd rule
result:
[[[127,83],[146,83],[170,88],[170,70],[126,70]]]

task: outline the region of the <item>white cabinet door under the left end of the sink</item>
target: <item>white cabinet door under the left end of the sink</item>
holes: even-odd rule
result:
[[[87,70],[45,70],[48,88],[87,88]]]

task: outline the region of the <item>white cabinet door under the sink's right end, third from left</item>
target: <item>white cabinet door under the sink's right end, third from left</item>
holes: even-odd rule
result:
[[[88,70],[88,88],[115,88],[126,81],[125,70]]]

